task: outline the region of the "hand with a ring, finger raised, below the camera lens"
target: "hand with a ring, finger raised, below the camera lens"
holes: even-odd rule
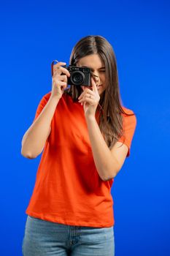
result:
[[[93,86],[92,87],[93,91],[85,88],[86,86],[82,86],[83,92],[78,98],[79,102],[82,103],[83,105],[85,116],[95,116],[96,108],[98,106],[98,102],[100,99],[100,96],[98,94],[98,89],[96,87],[96,83],[92,77],[91,77],[91,83]]]

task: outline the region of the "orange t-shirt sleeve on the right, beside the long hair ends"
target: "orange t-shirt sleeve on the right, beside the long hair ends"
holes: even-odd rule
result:
[[[131,113],[134,113],[131,111]],[[124,136],[122,136],[120,139],[117,141],[122,142],[126,146],[128,146],[128,154],[126,157],[129,157],[130,155],[130,148],[131,148],[131,142],[134,137],[134,132],[136,129],[136,116],[126,116],[123,114],[123,131],[124,131]]]

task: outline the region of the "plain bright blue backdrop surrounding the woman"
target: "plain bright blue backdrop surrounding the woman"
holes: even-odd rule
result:
[[[5,1],[1,23],[1,248],[20,256],[40,157],[20,154],[53,59],[100,34],[117,57],[120,93],[137,126],[112,187],[115,255],[170,255],[169,1]]]

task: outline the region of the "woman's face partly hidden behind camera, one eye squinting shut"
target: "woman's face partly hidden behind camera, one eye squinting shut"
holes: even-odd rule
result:
[[[99,77],[99,80],[98,80],[99,83],[97,86],[99,95],[106,89],[105,67],[104,67],[103,61],[101,61],[101,58],[100,58],[100,56],[98,56],[98,54],[91,54],[91,55],[82,57],[77,62],[77,67],[90,67],[93,74],[97,75]],[[81,88],[83,91],[85,88],[92,90],[92,85],[91,86],[81,86]]]

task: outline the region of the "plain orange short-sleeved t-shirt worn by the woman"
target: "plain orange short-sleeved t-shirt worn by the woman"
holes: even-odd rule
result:
[[[39,102],[34,121],[50,94],[45,94]],[[127,108],[124,110],[133,113]],[[125,116],[124,121],[124,143],[130,149],[136,116]],[[127,157],[129,154],[128,150]],[[64,225],[111,227],[115,223],[113,181],[113,178],[102,181],[98,175],[83,106],[64,93],[51,121],[51,132],[42,152],[26,214]]]

